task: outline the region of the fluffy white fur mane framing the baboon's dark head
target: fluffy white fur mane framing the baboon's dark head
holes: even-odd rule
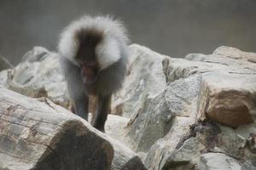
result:
[[[58,46],[61,56],[78,65],[75,55],[79,50],[79,41],[75,35],[81,29],[94,29],[103,33],[102,41],[96,46],[96,58],[101,69],[107,68],[120,59],[123,45],[128,42],[126,29],[119,20],[113,20],[109,16],[90,17],[86,15],[73,21],[61,33]]]

